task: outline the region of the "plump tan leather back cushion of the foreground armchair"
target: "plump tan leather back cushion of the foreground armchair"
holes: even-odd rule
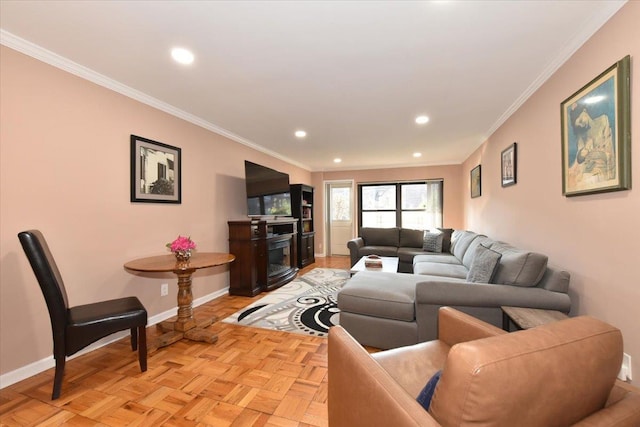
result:
[[[429,413],[451,426],[573,425],[604,407],[621,361],[620,331],[586,316],[457,344]]]

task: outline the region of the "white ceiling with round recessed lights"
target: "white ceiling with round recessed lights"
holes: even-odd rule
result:
[[[7,46],[328,171],[463,162],[623,4],[1,0],[0,24]]]

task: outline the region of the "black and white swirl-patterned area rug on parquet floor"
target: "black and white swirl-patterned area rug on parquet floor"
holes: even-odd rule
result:
[[[339,322],[337,295],[349,272],[314,268],[223,320],[225,323],[326,336]]]

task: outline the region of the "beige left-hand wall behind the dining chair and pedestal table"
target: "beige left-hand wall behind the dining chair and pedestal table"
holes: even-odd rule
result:
[[[40,229],[72,305],[137,295],[149,315],[176,306],[175,277],[123,264],[163,254],[178,234],[228,250],[227,220],[246,217],[244,160],[310,173],[6,47],[0,75],[0,373],[51,355],[46,305],[17,233]],[[182,148],[182,204],[129,201],[129,136]],[[228,286],[228,269],[198,272],[194,298]],[[160,297],[160,284],[170,283]]]

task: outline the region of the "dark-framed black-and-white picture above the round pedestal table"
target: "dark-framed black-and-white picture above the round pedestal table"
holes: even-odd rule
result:
[[[178,147],[131,135],[131,201],[182,203]]]

